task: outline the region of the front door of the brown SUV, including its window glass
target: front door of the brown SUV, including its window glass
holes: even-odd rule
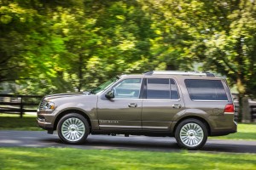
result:
[[[98,99],[97,114],[100,129],[142,129],[142,78],[128,78],[116,83],[111,90],[113,99],[105,94]]]

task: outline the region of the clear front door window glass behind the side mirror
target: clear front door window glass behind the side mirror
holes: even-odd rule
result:
[[[113,87],[114,99],[138,99],[141,90],[141,78],[125,79]]]

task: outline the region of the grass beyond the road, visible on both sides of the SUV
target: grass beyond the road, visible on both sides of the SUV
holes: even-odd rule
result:
[[[36,116],[0,114],[0,130],[42,130],[37,126]],[[256,140],[256,124],[238,124],[238,133],[226,136],[210,137],[209,139],[244,139]]]

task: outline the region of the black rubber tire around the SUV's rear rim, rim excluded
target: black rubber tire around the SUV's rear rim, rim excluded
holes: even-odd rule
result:
[[[198,145],[196,145],[196,146],[191,146],[191,147],[189,147],[189,146],[186,145],[186,144],[183,144],[182,140],[180,139],[180,131],[181,131],[181,128],[182,128],[185,124],[188,124],[188,123],[195,123],[195,124],[199,125],[199,126],[202,128],[203,133],[204,133],[204,137],[203,137],[203,139],[202,139],[202,141],[201,141],[201,144],[198,144]],[[176,131],[175,131],[175,139],[177,140],[177,144],[178,144],[180,147],[182,147],[182,148],[184,148],[184,149],[187,149],[187,150],[198,150],[198,149],[200,149],[201,147],[204,146],[204,144],[206,144],[207,138],[208,138],[207,126],[206,126],[203,122],[201,122],[201,121],[199,121],[199,120],[197,120],[197,119],[192,119],[192,118],[190,118],[190,119],[184,120],[183,122],[180,122],[180,123],[177,125]]]

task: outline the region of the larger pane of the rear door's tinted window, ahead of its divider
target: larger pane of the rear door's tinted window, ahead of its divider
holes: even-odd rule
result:
[[[147,99],[171,99],[169,79],[148,78]]]

